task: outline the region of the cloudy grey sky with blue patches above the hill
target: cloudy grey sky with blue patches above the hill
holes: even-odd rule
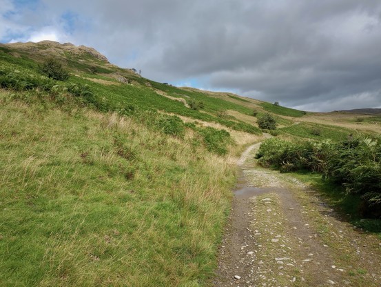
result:
[[[0,0],[0,42],[99,50],[175,86],[381,108],[380,0]]]

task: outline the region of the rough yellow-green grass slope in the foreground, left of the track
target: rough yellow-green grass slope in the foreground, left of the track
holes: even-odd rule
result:
[[[203,285],[229,210],[228,157],[192,130],[1,97],[0,285]]]

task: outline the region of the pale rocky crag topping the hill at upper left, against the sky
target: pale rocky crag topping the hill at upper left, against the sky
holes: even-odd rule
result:
[[[28,42],[28,43],[9,43],[3,44],[3,46],[9,48],[17,48],[18,50],[25,52],[34,52],[39,55],[51,56],[54,55],[56,57],[66,57],[67,54],[71,54],[72,56],[90,56],[94,59],[98,59],[99,61],[103,61],[105,63],[109,63],[107,58],[102,55],[100,52],[95,50],[94,48],[86,47],[86,46],[75,46],[72,43],[59,43],[55,41],[41,41],[38,43]],[[87,57],[88,57],[87,56]]]

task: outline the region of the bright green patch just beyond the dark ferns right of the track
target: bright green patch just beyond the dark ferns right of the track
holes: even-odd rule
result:
[[[331,139],[333,141],[340,141],[347,139],[353,134],[353,130],[347,128],[340,128],[338,126],[328,126],[318,123],[299,123],[292,126],[279,129],[287,135],[294,137],[302,137],[304,139]]]

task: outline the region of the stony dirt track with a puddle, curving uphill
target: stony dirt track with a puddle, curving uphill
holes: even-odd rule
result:
[[[361,232],[296,179],[238,165],[231,217],[213,286],[381,286],[381,241]]]

